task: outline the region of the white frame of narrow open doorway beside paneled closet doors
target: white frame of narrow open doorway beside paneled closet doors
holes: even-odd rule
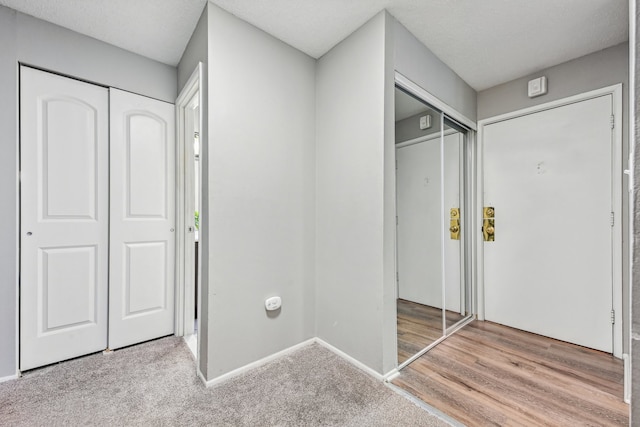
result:
[[[202,250],[198,251],[198,283],[193,282],[193,280],[188,280],[189,277],[193,277],[194,273],[193,264],[195,262],[193,251],[187,251],[186,243],[189,234],[193,234],[193,231],[189,231],[189,227],[193,227],[193,213],[191,212],[191,207],[193,205],[193,200],[190,201],[189,195],[187,194],[186,189],[186,179],[187,173],[193,173],[193,167],[187,164],[187,160],[189,158],[193,158],[193,146],[189,143],[187,144],[186,140],[186,131],[185,122],[187,119],[186,109],[188,107],[189,102],[193,99],[193,97],[198,94],[199,97],[199,105],[200,105],[200,125],[202,127],[202,91],[201,82],[202,82],[202,73],[203,66],[202,63],[199,62],[196,68],[194,69],[191,77],[185,84],[184,88],[180,92],[178,99],[176,100],[176,159],[177,159],[177,168],[176,168],[176,214],[177,214],[177,246],[176,246],[176,332],[177,336],[185,335],[185,331],[189,332],[190,329],[187,325],[189,322],[193,324],[194,319],[194,304],[192,295],[195,293],[194,286],[197,287],[198,290],[198,313],[201,313],[201,304],[200,304],[200,280],[202,277],[202,263],[201,254]],[[200,138],[202,141],[204,138]],[[188,157],[189,153],[191,154]],[[202,181],[202,180],[200,180]],[[202,188],[202,187],[200,187]],[[191,189],[193,190],[193,189]],[[197,195],[199,197],[200,195]],[[200,347],[200,329],[197,330],[197,342],[198,348]],[[196,352],[197,355],[200,352]]]

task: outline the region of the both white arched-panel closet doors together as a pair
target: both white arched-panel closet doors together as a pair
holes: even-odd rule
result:
[[[172,334],[174,106],[20,81],[20,369]]]

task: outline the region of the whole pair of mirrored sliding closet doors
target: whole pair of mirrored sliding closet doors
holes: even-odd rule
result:
[[[466,130],[396,88],[398,364],[470,315],[465,269]]]

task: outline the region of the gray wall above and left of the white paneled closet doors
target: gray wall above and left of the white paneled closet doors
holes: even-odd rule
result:
[[[18,62],[174,102],[174,67],[0,6],[0,378],[16,373]]]

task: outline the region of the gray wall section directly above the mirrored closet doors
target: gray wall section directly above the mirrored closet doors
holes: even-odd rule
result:
[[[395,19],[394,19],[395,21]],[[396,70],[466,118],[476,120],[476,91],[395,21]]]

